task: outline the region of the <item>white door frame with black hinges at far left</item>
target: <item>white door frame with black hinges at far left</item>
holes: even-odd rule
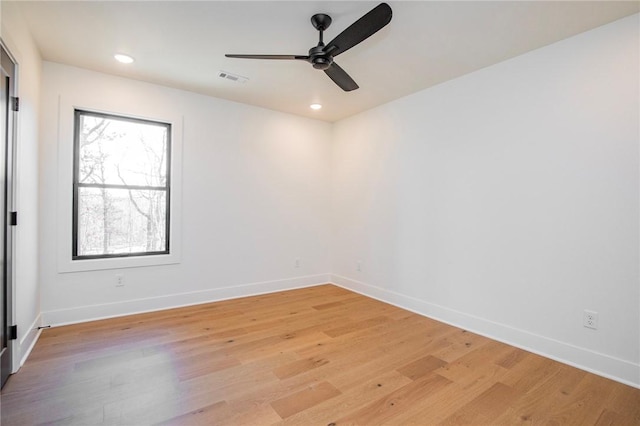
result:
[[[4,43],[4,41],[0,38],[0,49],[2,49],[3,53],[6,54],[7,58],[11,61],[13,65],[13,75],[10,81],[9,93],[7,94],[10,97],[18,98],[18,62],[15,57],[11,54],[11,51]],[[3,55],[4,56],[4,55]],[[16,315],[15,315],[15,226],[13,226],[11,222],[11,212],[15,212],[16,208],[16,144],[17,144],[17,124],[18,124],[18,114],[17,111],[14,111],[12,108],[9,109],[9,117],[7,120],[7,131],[8,131],[8,140],[7,140],[7,152],[6,152],[6,205],[5,212],[6,221],[2,221],[2,213],[0,212],[0,226],[5,226],[5,280],[6,280],[6,318],[7,318],[7,330],[12,325],[16,324]],[[0,147],[1,149],[1,147]],[[0,196],[2,194],[0,193]],[[2,223],[4,222],[4,224]],[[2,242],[0,242],[1,244]],[[9,356],[9,366],[10,371],[9,374],[12,374],[17,371],[19,366],[18,361],[18,345],[15,344],[17,340],[8,339],[7,340],[7,355]],[[4,374],[4,373],[3,373]]]

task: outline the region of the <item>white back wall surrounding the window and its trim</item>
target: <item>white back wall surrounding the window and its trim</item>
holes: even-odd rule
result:
[[[328,280],[330,124],[51,62],[44,62],[42,87],[44,323]],[[56,129],[59,114],[65,123],[73,120],[71,110],[59,108],[71,103],[116,113],[144,111],[151,118],[156,111],[182,117],[181,263],[61,273],[57,230],[68,218],[55,214],[57,156],[69,152],[72,140]],[[124,275],[122,288],[115,287],[116,273]]]

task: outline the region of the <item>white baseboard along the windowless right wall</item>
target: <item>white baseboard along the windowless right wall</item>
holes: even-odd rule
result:
[[[340,275],[331,275],[330,281],[347,290],[378,299],[419,315],[469,330],[635,388],[640,388],[640,365],[633,362],[455,311]]]

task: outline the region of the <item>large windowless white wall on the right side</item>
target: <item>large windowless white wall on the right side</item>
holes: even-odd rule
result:
[[[337,123],[334,281],[640,385],[638,44],[635,15]]]

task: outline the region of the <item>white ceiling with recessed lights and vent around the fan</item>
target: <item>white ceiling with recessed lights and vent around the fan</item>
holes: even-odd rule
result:
[[[6,1],[3,1],[6,4]],[[369,1],[21,1],[43,59],[336,121],[638,12],[637,1],[390,1],[391,23],[336,58],[359,84],[343,92],[303,61],[225,53],[306,55],[309,18],[333,18],[331,40]],[[136,61],[122,65],[116,52]],[[245,84],[218,77],[227,71]],[[320,111],[309,109],[321,103]]]

